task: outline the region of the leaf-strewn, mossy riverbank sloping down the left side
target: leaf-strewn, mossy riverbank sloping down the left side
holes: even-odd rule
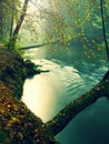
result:
[[[39,71],[13,50],[0,48],[0,144],[54,144],[43,122],[19,100],[27,76]]]

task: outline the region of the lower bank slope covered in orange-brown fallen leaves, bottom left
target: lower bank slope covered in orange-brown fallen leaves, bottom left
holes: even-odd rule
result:
[[[8,133],[12,144],[54,144],[43,122],[36,116],[0,81],[0,130]],[[4,142],[4,143],[6,143]]]

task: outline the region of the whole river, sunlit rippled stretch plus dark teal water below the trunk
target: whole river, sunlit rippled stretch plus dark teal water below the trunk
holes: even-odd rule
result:
[[[61,58],[65,52],[58,52],[58,58],[51,53],[52,56],[48,59],[46,51],[26,52],[26,56],[41,65],[41,70],[49,70],[27,79],[22,95],[22,101],[43,122],[51,120],[69,102],[93,88],[108,70],[102,59],[98,62],[78,56],[76,60],[67,54]],[[108,134],[109,103],[106,97],[101,97],[78,114],[56,140],[62,144],[109,144]]]

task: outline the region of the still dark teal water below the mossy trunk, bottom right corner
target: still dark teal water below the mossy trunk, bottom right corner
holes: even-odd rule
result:
[[[99,99],[56,137],[62,144],[109,144],[109,101]]]

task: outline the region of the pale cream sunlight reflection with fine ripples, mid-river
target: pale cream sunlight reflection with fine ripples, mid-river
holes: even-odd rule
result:
[[[26,80],[22,101],[46,122],[76,99],[77,95],[72,96],[71,94],[77,84],[78,86],[82,85],[83,80],[72,66],[63,66],[47,60],[36,60],[34,62],[41,64],[42,70],[50,70],[50,72]]]

